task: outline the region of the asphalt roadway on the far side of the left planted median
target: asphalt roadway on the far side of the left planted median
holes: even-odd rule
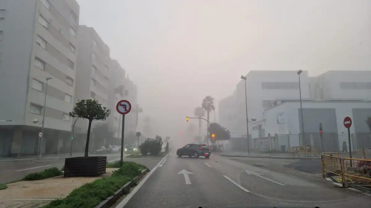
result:
[[[120,159],[120,154],[108,154],[107,161],[115,162]],[[134,161],[148,168],[154,168],[161,158],[125,158],[125,161]],[[58,159],[24,159],[24,160],[1,160],[0,161],[0,183],[9,183],[22,179],[32,172],[40,172],[47,168],[62,168],[65,165],[64,158]]]

